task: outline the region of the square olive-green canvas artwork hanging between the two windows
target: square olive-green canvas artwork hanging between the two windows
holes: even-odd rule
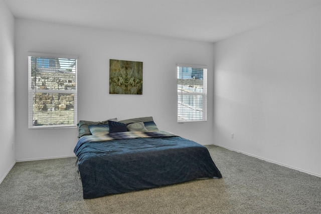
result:
[[[142,62],[109,60],[109,94],[142,94]]]

